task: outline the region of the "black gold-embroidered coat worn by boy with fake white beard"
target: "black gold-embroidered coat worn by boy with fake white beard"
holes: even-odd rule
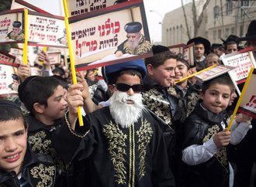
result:
[[[83,145],[88,172],[73,186],[174,186],[163,134],[148,112],[121,128],[104,107],[88,114],[85,124],[92,125]]]

